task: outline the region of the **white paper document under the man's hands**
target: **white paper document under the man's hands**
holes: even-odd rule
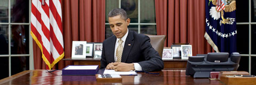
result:
[[[137,72],[135,71],[116,72],[115,70],[105,70],[103,74],[137,75]]]

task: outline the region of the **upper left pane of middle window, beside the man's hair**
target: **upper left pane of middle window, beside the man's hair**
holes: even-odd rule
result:
[[[108,13],[114,8],[118,8],[118,0],[106,0],[106,23],[108,23]]]

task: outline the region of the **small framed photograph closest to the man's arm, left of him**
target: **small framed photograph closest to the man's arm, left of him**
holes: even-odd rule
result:
[[[102,43],[94,43],[94,58],[101,58]]]

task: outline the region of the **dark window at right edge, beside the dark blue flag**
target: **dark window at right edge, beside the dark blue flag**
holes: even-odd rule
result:
[[[237,52],[239,71],[256,74],[256,0],[236,0]]]

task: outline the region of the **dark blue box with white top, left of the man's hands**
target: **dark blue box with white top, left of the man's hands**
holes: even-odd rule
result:
[[[95,75],[99,65],[68,65],[62,69],[62,75]]]

